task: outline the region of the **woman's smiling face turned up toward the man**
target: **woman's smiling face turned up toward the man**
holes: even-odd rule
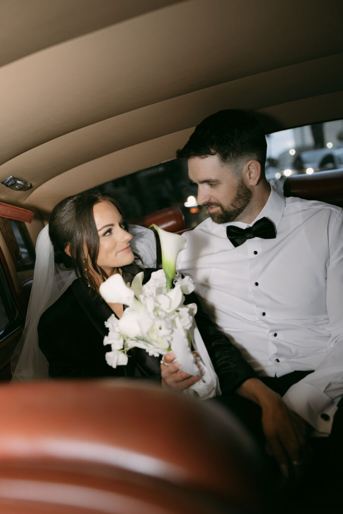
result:
[[[93,207],[95,225],[99,234],[97,265],[109,276],[113,268],[134,261],[130,246],[132,235],[123,228],[123,218],[110,201],[103,200]]]

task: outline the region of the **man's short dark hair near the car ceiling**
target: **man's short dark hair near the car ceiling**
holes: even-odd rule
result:
[[[177,150],[178,159],[218,155],[220,160],[240,171],[244,162],[256,159],[264,170],[267,143],[263,126],[250,113],[226,109],[205,118],[184,148]]]

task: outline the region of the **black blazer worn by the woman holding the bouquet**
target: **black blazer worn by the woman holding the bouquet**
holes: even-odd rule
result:
[[[136,266],[123,269],[126,282],[139,271]],[[145,270],[144,282],[154,269]],[[255,372],[234,346],[210,321],[194,293],[187,295],[186,304],[195,302],[195,320],[207,347],[223,393],[237,389]],[[160,358],[151,357],[141,348],[130,350],[126,366],[112,368],[105,353],[111,346],[103,344],[108,333],[104,322],[113,310],[82,279],[77,279],[42,315],[39,325],[39,346],[49,362],[51,377],[137,377],[160,380]]]

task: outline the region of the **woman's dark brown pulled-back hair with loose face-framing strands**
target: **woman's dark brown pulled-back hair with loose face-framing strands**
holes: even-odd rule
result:
[[[93,273],[87,274],[85,253],[88,253],[93,269],[102,279],[106,279],[106,273],[96,263],[99,234],[93,216],[93,207],[103,200],[110,201],[120,214],[123,214],[111,196],[85,192],[60,201],[53,208],[49,219],[49,236],[55,254],[55,264],[62,269],[74,269],[77,276],[86,282],[89,281],[95,290],[99,284],[95,282]],[[65,252],[68,244],[70,256]]]

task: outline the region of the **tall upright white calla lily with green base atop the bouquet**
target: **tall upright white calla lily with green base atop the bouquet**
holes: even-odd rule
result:
[[[161,243],[162,267],[166,274],[167,290],[169,291],[172,280],[175,277],[177,255],[181,250],[187,248],[187,241],[182,235],[167,232],[166,230],[157,227],[155,224],[151,226],[157,230]]]

